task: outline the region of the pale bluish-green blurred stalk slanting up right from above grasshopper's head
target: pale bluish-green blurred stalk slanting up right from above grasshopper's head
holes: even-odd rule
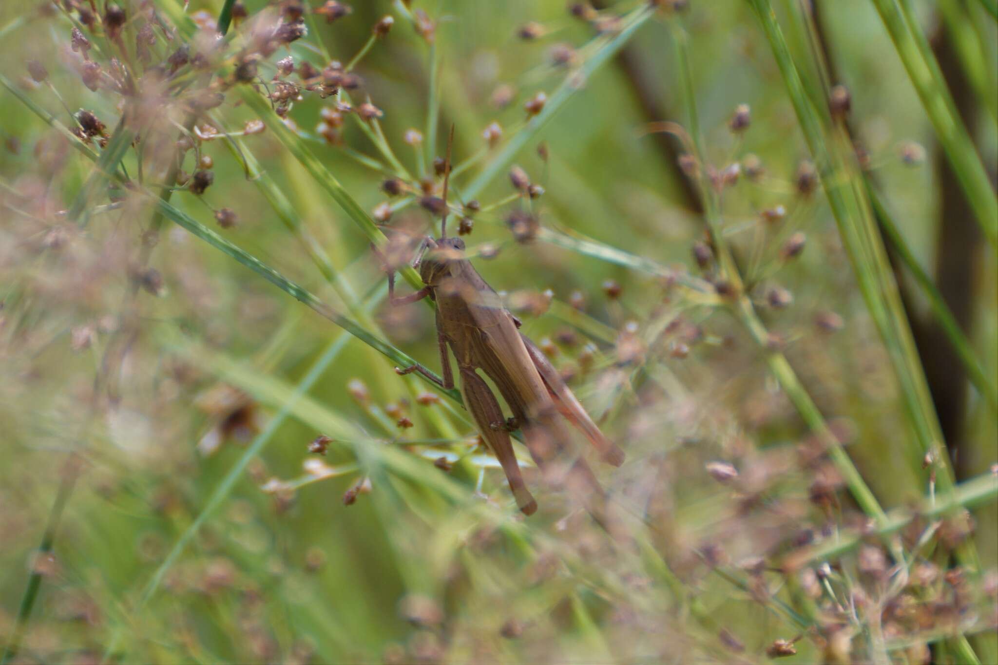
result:
[[[513,158],[516,157],[517,153],[555,117],[561,108],[565,106],[565,103],[579,92],[582,88],[579,80],[585,81],[589,79],[594,72],[616,55],[627,44],[638,28],[644,25],[645,21],[653,16],[654,13],[653,7],[647,3],[643,3],[624,17],[620,32],[609,39],[601,38],[605,39],[605,41],[593,52],[592,56],[586,59],[578,72],[574,73],[558,87],[558,90],[555,91],[544,105],[541,113],[534,116],[519,133],[510,139],[475,179],[464,188],[464,196],[466,198],[475,198],[478,196],[493,178],[513,162]]]

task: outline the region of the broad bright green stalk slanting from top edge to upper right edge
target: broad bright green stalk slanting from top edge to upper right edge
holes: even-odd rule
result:
[[[755,2],[755,0],[752,0]],[[974,209],[984,236],[998,249],[998,197],[991,187],[987,170],[974,148],[956,105],[942,80],[939,65],[928,48],[921,29],[907,21],[895,0],[872,0],[887,29],[897,55],[918,93],[926,115],[932,122],[939,143],[946,154]]]

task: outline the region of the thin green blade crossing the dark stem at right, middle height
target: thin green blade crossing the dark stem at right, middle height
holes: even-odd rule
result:
[[[977,388],[981,397],[988,403],[991,411],[998,414],[998,390],[995,389],[995,385],[988,379],[980,361],[974,355],[970,340],[963,334],[963,330],[960,328],[956,317],[953,316],[953,312],[946,305],[942,293],[939,292],[932,278],[925,272],[914,253],[908,247],[908,243],[901,235],[900,229],[894,224],[893,219],[891,219],[890,214],[880,200],[880,196],[870,185],[869,180],[866,181],[866,185],[870,203],[873,205],[877,219],[880,220],[880,228],[883,230],[884,235],[894,247],[894,251],[897,252],[897,257],[921,287],[922,293],[928,298],[929,308],[946,334],[946,338],[953,345],[953,350],[959,356],[960,363],[967,372],[967,378],[970,379],[970,382]]]

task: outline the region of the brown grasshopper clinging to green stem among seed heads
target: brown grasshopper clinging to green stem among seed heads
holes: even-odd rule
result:
[[[443,380],[419,364],[396,368],[396,372],[419,372],[445,389],[453,388],[454,375],[447,356],[449,345],[457,360],[465,407],[482,439],[499,460],[520,509],[532,514],[537,501],[527,490],[513,454],[509,433],[516,429],[522,430],[531,457],[545,478],[555,486],[567,485],[602,522],[603,490],[586,461],[572,454],[571,434],[558,416],[564,416],[579,428],[603,461],[619,467],[624,462],[624,452],[603,436],[544,353],[518,330],[520,321],[503,306],[496,292],[465,257],[464,240],[447,237],[449,146],[447,153],[440,237],[427,236],[413,263],[425,286],[396,297],[394,271],[385,266],[391,304],[416,302],[427,296],[436,302]],[[503,417],[495,395],[477,370],[499,388],[513,412],[512,419]]]

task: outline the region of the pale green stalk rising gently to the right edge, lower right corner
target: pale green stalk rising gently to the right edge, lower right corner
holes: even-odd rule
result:
[[[998,499],[998,476],[982,474],[958,485],[948,497],[926,497],[915,509],[905,506],[891,510],[884,522],[876,527],[875,533],[885,537],[901,530],[913,519],[938,519],[954,508],[970,509],[995,499]],[[820,544],[790,552],[783,557],[780,567],[784,570],[798,570],[811,561],[833,559],[858,546],[868,535],[865,532],[839,533],[837,537]]]

